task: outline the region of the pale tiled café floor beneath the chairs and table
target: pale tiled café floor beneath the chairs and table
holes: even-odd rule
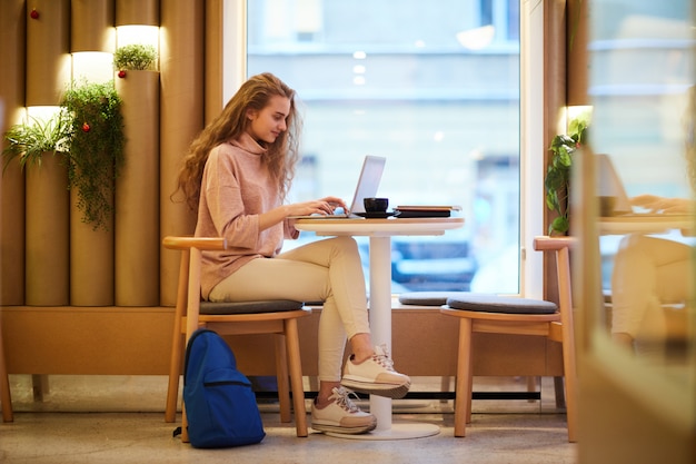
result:
[[[414,391],[430,391],[429,379]],[[163,421],[165,377],[51,376],[42,402],[29,376],[11,376],[14,422],[0,424],[2,463],[574,463],[566,416],[556,411],[551,379],[541,401],[474,402],[466,438],[453,436],[453,403],[394,402],[394,423],[429,423],[439,434],[405,441],[357,441],[310,433],[297,438],[274,404],[261,404],[267,436],[258,445],[195,450],[173,438]],[[439,387],[439,385],[438,385]],[[475,391],[526,388],[521,379],[478,379]],[[362,407],[368,402],[360,402]]]

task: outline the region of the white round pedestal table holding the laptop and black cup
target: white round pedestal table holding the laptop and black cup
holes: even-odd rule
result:
[[[443,235],[445,230],[464,225],[464,218],[388,218],[388,219],[297,219],[298,230],[320,236],[369,237],[370,253],[370,329],[372,343],[386,345],[391,353],[391,237],[407,235]],[[398,365],[398,364],[397,364]],[[354,440],[400,440],[437,435],[432,424],[392,424],[391,399],[370,395],[370,413],[377,417],[377,428],[368,434],[330,434]]]

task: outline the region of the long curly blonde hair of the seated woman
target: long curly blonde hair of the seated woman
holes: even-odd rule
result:
[[[225,106],[222,112],[202,130],[189,147],[181,160],[175,194],[181,190],[189,208],[198,211],[200,185],[210,150],[220,144],[239,138],[247,130],[250,124],[247,118],[248,109],[260,111],[269,103],[271,97],[280,96],[290,100],[290,111],[286,120],[288,129],[281,132],[276,141],[266,146],[267,150],[262,155],[261,161],[268,166],[268,171],[278,184],[280,196],[285,199],[295,176],[295,166],[299,159],[301,121],[295,102],[295,90],[270,72],[249,78]]]

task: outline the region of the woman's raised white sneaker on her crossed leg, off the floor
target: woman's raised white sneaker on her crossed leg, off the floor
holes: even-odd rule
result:
[[[408,393],[411,381],[394,369],[394,362],[385,345],[376,346],[372,357],[360,364],[355,364],[352,358],[350,356],[346,362],[344,378],[340,381],[346,388],[396,399]]]

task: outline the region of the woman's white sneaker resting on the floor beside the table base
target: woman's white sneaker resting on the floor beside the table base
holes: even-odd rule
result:
[[[332,402],[319,409],[317,401],[311,404],[311,428],[319,432],[361,434],[374,431],[377,418],[360,411],[348,396],[351,392],[335,387],[329,399]]]

